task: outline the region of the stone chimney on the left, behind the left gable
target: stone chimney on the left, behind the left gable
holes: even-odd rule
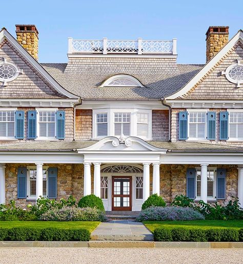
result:
[[[17,42],[38,60],[38,30],[35,25],[15,25]]]

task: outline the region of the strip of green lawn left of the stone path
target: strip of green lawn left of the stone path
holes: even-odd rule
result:
[[[52,221],[0,221],[0,228],[65,228],[65,229],[88,229],[90,233],[100,222],[73,221],[73,222],[52,222]]]

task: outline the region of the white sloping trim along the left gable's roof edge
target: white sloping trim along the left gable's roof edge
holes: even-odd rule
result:
[[[0,31],[0,43],[7,40],[25,60],[42,76],[58,93],[67,97],[68,99],[78,99],[78,96],[74,95],[64,87],[62,87],[43,67],[40,65],[30,54],[23,48],[14,37],[3,28]]]

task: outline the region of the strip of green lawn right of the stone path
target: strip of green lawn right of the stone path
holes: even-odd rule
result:
[[[196,221],[145,221],[146,227],[153,232],[156,228],[243,228],[243,220],[196,220]]]

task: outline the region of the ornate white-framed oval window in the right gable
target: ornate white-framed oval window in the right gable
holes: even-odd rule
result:
[[[231,83],[237,84],[237,88],[243,85],[243,63],[237,60],[237,63],[230,65],[226,71],[221,71],[221,75],[225,75]]]

